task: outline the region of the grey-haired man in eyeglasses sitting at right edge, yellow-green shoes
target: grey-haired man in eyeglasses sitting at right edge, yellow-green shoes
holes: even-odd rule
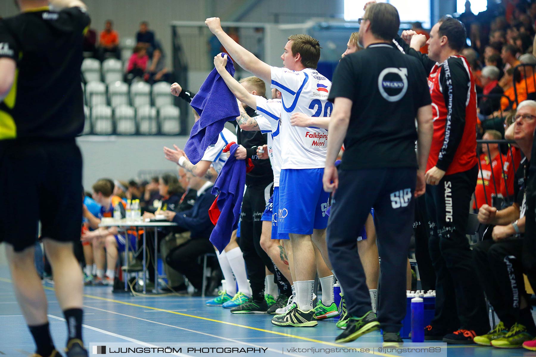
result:
[[[475,343],[483,346],[517,348],[536,336],[536,325],[525,292],[522,264],[524,240],[529,238],[524,233],[527,174],[532,156],[534,128],[536,102],[521,102],[515,123],[507,130],[507,135],[513,133],[513,139],[525,154],[516,172],[516,202],[500,211],[484,204],[478,212],[480,223],[495,226],[493,240],[483,240],[473,247],[475,267],[486,296],[501,320],[493,330],[474,338]]]

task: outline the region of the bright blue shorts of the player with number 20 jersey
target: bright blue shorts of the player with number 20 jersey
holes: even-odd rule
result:
[[[281,170],[279,233],[312,234],[326,228],[330,194],[324,191],[323,175],[324,169]]]

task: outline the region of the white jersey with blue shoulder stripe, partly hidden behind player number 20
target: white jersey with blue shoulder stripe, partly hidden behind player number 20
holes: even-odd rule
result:
[[[279,187],[279,176],[281,174],[281,100],[266,99],[257,96],[257,124],[263,133],[268,130],[268,154],[273,170],[273,186]]]

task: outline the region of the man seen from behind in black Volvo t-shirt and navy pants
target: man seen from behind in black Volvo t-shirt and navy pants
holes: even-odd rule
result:
[[[327,227],[330,260],[345,292],[348,313],[355,317],[371,312],[364,271],[361,263],[356,263],[355,239],[370,208],[375,209],[382,256],[382,304],[377,320],[384,333],[398,332],[406,315],[406,264],[414,196],[424,191],[423,170],[433,131],[426,73],[415,58],[404,55],[392,43],[399,24],[392,5],[367,7],[359,39],[366,49],[344,57],[333,75],[329,100],[335,104],[324,174],[324,188],[338,188]],[[337,174],[330,166],[343,138],[345,153]],[[350,320],[346,331],[353,330],[353,321],[357,320]]]

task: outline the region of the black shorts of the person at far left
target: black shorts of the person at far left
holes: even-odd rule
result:
[[[0,241],[80,240],[82,156],[75,139],[0,142]]]

